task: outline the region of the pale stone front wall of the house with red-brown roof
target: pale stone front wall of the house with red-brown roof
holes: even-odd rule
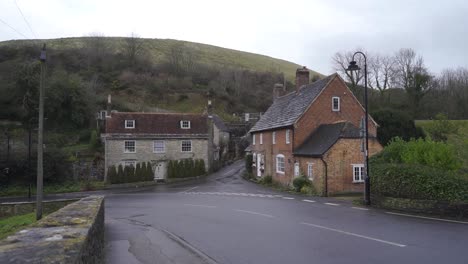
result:
[[[126,139],[125,139],[126,140]],[[190,139],[192,141],[192,152],[182,152],[182,140],[189,139],[165,139],[166,152],[153,153],[153,139],[136,139],[136,153],[124,153],[124,139],[106,139],[106,174],[107,168],[119,165],[126,160],[137,162],[147,161],[169,161],[179,159],[203,159],[208,169],[208,140]],[[157,139],[160,140],[160,139]]]

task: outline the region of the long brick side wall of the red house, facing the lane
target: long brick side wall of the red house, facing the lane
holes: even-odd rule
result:
[[[262,176],[271,175],[273,180],[282,184],[290,184],[294,169],[294,157],[292,155],[292,143],[294,140],[293,129],[290,131],[290,143],[286,144],[286,130],[278,129],[263,132],[255,132],[255,145],[252,145],[252,154],[265,155],[265,171]],[[276,132],[276,144],[273,144],[272,135]],[[260,134],[263,134],[263,144],[260,144]],[[285,157],[285,174],[276,172],[276,155],[282,154]],[[256,168],[252,173],[257,175]]]

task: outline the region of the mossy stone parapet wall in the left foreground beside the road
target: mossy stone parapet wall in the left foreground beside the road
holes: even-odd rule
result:
[[[103,262],[103,196],[69,204],[0,241],[0,263]]]

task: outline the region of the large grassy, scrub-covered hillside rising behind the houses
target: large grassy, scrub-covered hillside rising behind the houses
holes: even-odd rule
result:
[[[0,119],[19,119],[24,95],[35,94],[42,43],[47,45],[50,90],[75,94],[72,99],[77,101],[91,99],[87,114],[104,108],[107,94],[112,94],[116,109],[126,111],[201,112],[208,94],[224,118],[264,111],[271,103],[273,84],[284,82],[285,76],[287,88],[292,88],[299,67],[264,55],[171,39],[93,36],[4,41],[0,42],[0,92],[8,96],[0,98]],[[311,76],[320,74],[311,71]],[[63,85],[77,89],[63,92],[59,88]],[[51,98],[61,100],[56,94]],[[58,105],[51,108],[61,111]],[[71,109],[68,114],[73,113]],[[78,123],[73,126],[85,122]]]

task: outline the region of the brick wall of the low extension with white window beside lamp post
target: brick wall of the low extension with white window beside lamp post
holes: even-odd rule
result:
[[[382,149],[376,139],[369,139],[369,156]],[[365,163],[360,139],[339,139],[323,159],[328,164],[328,195],[364,191],[364,183],[353,183],[353,164]]]

